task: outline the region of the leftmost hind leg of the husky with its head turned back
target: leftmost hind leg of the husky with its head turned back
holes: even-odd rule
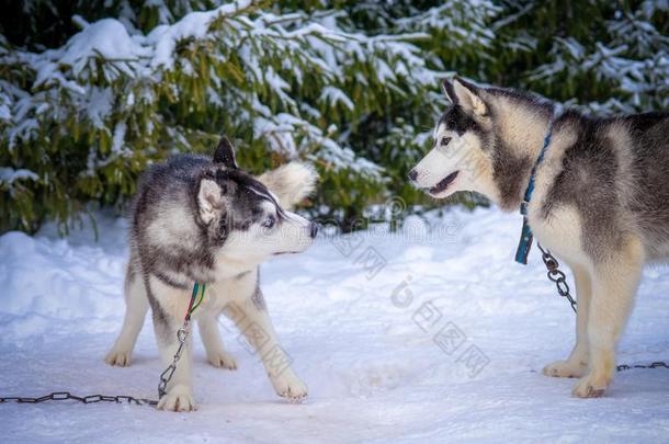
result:
[[[107,364],[121,367],[131,365],[131,355],[135,342],[137,342],[137,335],[144,326],[146,311],[149,308],[146,286],[135,266],[131,259],[124,285],[125,318],[123,319],[123,328],[114,346],[104,358]]]

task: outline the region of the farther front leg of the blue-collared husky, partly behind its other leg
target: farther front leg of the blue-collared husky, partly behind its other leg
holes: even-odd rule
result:
[[[571,266],[576,282],[578,308],[576,315],[576,345],[567,361],[557,361],[544,367],[544,375],[562,378],[580,378],[588,365],[588,311],[592,299],[590,271],[583,265]]]

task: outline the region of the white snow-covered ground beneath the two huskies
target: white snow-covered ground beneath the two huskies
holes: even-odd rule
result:
[[[101,216],[99,225],[99,242],[89,228],[66,239],[53,227],[0,237],[0,396],[156,397],[162,364],[148,318],[133,366],[102,361],[124,310],[126,224]],[[306,403],[276,397],[258,356],[223,322],[239,369],[209,366],[197,341],[196,412],[0,405],[0,441],[669,441],[669,371],[621,373],[591,400],[570,397],[575,380],[541,374],[569,353],[574,314],[536,251],[528,267],[512,262],[520,216],[453,209],[430,229],[418,218],[407,226],[322,238],[263,265]],[[647,269],[621,363],[669,360],[668,296],[669,267]]]

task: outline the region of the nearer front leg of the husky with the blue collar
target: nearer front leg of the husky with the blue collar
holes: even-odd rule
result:
[[[594,264],[593,294],[588,314],[589,373],[576,387],[579,398],[602,396],[615,372],[615,348],[638,287],[644,265],[644,248],[627,239],[617,251]]]

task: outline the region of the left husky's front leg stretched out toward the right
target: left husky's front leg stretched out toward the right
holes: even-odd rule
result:
[[[279,396],[291,401],[307,397],[307,386],[291,367],[292,358],[279,344],[260,288],[251,298],[245,298],[226,307],[225,312],[243,332],[248,342],[260,354],[270,382]]]

